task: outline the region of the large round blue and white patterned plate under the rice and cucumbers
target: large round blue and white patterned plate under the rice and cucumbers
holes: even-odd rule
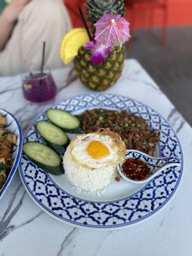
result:
[[[85,109],[126,109],[147,120],[157,129],[160,141],[156,156],[178,156],[182,150],[172,127],[156,111],[141,102],[120,95],[92,93],[79,95],[54,106],[72,114]],[[35,123],[45,120],[42,114],[26,132],[26,141],[43,139],[35,130]],[[183,161],[182,161],[183,162]],[[177,191],[182,177],[181,168],[172,167],[160,173],[147,184],[128,184],[124,179],[114,181],[100,196],[97,193],[77,193],[65,179],[45,173],[22,154],[20,177],[33,200],[57,220],[84,228],[120,228],[146,220],[166,205]]]

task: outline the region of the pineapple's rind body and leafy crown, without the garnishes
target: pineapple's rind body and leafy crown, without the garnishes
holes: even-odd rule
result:
[[[124,15],[124,0],[88,0],[86,3],[87,19],[93,24],[106,13]],[[116,83],[121,75],[125,45],[113,47],[112,52],[106,56],[106,60],[99,65],[93,65],[92,51],[81,47],[74,63],[77,75],[82,83],[93,90],[106,90]]]

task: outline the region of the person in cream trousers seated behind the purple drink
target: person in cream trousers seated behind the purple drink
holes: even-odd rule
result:
[[[3,1],[5,0],[1,0],[1,4]],[[0,76],[40,70],[44,41],[45,67],[63,67],[60,44],[71,28],[63,1],[6,2],[10,4],[4,2],[5,7],[0,15]]]

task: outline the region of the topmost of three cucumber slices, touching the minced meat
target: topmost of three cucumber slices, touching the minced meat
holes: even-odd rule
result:
[[[46,115],[53,124],[58,125],[66,132],[79,133],[82,131],[79,119],[66,111],[51,108],[46,111]]]

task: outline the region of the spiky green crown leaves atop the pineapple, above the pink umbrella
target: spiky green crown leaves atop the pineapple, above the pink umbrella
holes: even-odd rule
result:
[[[85,4],[87,20],[95,23],[106,13],[124,16],[124,0],[88,0]]]

